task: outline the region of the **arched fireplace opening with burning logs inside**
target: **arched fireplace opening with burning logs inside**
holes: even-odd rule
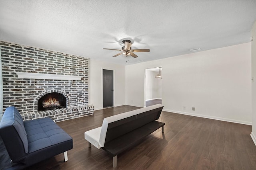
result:
[[[66,107],[66,98],[60,93],[48,93],[37,102],[37,111],[60,109]]]

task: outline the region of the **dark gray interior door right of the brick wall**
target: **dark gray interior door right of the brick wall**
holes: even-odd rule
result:
[[[103,69],[103,108],[113,106],[113,70]]]

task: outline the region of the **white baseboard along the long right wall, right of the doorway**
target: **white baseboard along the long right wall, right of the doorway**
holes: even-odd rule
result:
[[[234,119],[226,119],[226,118],[223,118],[223,117],[200,115],[200,114],[195,114],[195,113],[188,113],[188,112],[175,111],[175,110],[169,110],[169,109],[163,109],[163,111],[168,111],[168,112],[172,112],[172,113],[179,113],[179,114],[183,114],[183,115],[196,116],[196,117],[204,117],[204,118],[215,119],[215,120],[220,120],[220,121],[228,121],[228,122],[232,122],[232,123],[240,123],[240,124],[244,124],[244,125],[252,125],[252,122],[239,121],[239,120],[234,120]]]

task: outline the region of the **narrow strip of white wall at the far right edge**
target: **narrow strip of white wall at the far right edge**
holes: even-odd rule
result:
[[[252,27],[252,139],[256,145],[256,22]]]

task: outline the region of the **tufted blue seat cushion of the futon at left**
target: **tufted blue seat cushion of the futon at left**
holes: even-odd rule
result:
[[[73,148],[73,139],[50,117],[24,121],[28,135],[28,155],[24,164],[30,166]]]

